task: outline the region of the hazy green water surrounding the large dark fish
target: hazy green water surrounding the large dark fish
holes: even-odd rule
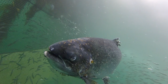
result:
[[[27,2],[4,30],[0,38],[0,84],[85,84],[54,70],[43,55],[52,43],[80,37],[120,38],[123,57],[109,75],[110,84],[168,83],[167,1],[65,0],[59,18],[48,13],[54,0],[49,1],[25,24],[32,7]]]

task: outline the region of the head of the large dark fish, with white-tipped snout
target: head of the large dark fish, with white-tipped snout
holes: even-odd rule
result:
[[[44,52],[49,63],[59,72],[71,76],[80,76],[81,72],[86,73],[84,69],[90,65],[91,54],[79,45],[66,43],[55,43]]]

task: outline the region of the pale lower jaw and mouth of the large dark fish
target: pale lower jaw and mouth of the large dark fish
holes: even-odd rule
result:
[[[49,63],[54,69],[69,75],[74,74],[71,67],[69,66],[70,63],[62,59],[61,56],[55,56],[50,53],[50,51],[44,51],[44,55],[48,58]]]

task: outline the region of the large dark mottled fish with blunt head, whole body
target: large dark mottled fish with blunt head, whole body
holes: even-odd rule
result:
[[[78,38],[57,42],[44,54],[60,72],[82,78],[86,84],[103,78],[108,84],[111,74],[121,60],[119,40]]]

